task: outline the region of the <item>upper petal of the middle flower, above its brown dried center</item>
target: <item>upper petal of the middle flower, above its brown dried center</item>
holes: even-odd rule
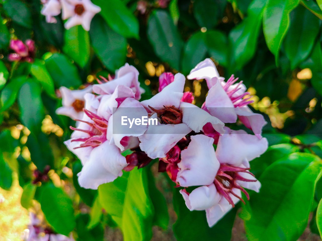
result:
[[[153,96],[151,99],[141,101],[141,104],[151,110],[149,106],[153,108],[159,108],[163,106],[180,106],[180,101],[183,96],[183,89],[185,86],[185,76],[177,73],[174,81],[167,85],[161,92]]]

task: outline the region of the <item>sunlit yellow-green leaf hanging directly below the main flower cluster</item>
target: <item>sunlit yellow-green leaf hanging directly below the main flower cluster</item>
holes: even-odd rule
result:
[[[152,237],[152,203],[146,175],[146,169],[135,168],[113,183],[99,186],[99,201],[121,228],[124,241]]]

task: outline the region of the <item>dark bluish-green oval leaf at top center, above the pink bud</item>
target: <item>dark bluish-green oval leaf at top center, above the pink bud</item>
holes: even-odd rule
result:
[[[151,13],[148,20],[147,37],[156,55],[178,70],[183,43],[166,11],[155,10]]]

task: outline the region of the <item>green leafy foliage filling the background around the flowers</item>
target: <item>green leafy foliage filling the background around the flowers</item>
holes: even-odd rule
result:
[[[21,240],[26,209],[84,241],[319,240],[321,0],[93,3],[102,11],[87,32],[65,30],[59,16],[46,23],[40,0],[0,1],[0,240]],[[33,63],[8,61],[15,38],[35,41]],[[252,108],[269,122],[263,136],[270,147],[251,163],[261,192],[208,228],[204,213],[186,208],[156,162],[98,191],[81,188],[81,163],[63,144],[74,121],[55,114],[57,89],[84,88],[128,62],[139,70],[148,99],[161,73],[187,75],[206,57],[221,76],[243,80]],[[185,91],[201,106],[206,83],[187,81]],[[34,183],[35,170],[48,182]]]

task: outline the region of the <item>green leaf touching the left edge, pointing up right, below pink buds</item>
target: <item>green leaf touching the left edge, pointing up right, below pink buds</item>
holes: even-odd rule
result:
[[[5,86],[5,88],[1,92],[1,110],[0,112],[3,112],[10,108],[10,106],[13,105],[17,98],[18,91],[20,90],[20,87],[23,85],[24,82],[26,82],[27,77],[26,76],[19,76],[17,78],[11,79],[9,84]]]

